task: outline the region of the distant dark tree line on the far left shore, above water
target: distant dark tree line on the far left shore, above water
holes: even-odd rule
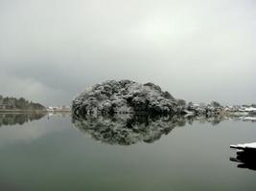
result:
[[[23,97],[0,96],[0,110],[45,110],[45,107]]]

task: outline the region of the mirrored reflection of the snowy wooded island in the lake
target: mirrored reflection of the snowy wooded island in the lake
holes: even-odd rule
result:
[[[72,117],[74,127],[91,138],[106,144],[131,145],[138,142],[151,143],[168,135],[176,126],[200,123],[219,124],[222,120],[242,119],[234,117],[182,117],[115,115],[113,117]]]

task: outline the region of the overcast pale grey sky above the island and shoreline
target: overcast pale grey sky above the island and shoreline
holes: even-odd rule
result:
[[[254,0],[0,0],[0,94],[69,104],[106,79],[256,102]]]

